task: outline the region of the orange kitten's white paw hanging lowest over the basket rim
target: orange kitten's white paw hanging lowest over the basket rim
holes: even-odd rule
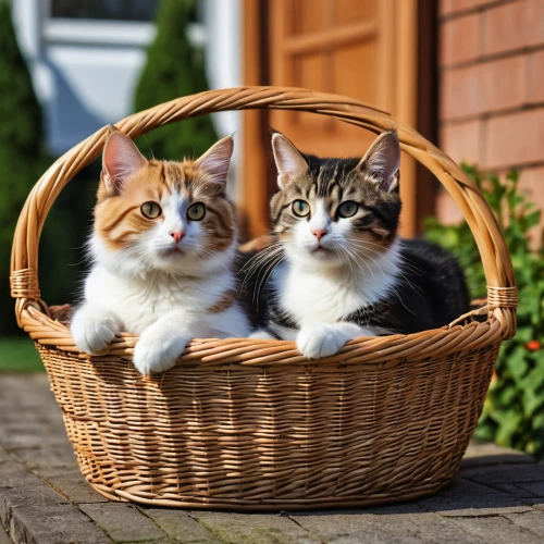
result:
[[[134,366],[144,375],[172,368],[191,341],[189,335],[168,335],[160,329],[154,325],[146,329],[134,348]]]

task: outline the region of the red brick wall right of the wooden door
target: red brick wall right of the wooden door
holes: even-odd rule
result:
[[[438,0],[440,144],[544,208],[544,0]],[[441,194],[438,213],[455,219]]]

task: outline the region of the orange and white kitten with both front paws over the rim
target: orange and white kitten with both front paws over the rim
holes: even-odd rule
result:
[[[94,260],[72,335],[102,353],[121,331],[139,334],[134,364],[143,373],[174,366],[195,337],[247,336],[234,299],[233,209],[225,196],[233,139],[196,161],[146,160],[112,132],[89,249]]]

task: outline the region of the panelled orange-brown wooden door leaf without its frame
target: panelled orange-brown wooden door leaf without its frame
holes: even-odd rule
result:
[[[380,33],[388,0],[269,2],[271,84],[335,92],[392,109],[391,33]],[[383,26],[386,26],[385,24]],[[271,125],[301,150],[323,157],[363,154],[373,135],[337,120],[272,111]]]

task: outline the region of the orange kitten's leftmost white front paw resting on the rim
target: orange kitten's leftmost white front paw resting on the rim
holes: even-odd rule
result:
[[[79,308],[70,326],[75,345],[86,354],[99,355],[123,330],[123,323],[111,311]]]

